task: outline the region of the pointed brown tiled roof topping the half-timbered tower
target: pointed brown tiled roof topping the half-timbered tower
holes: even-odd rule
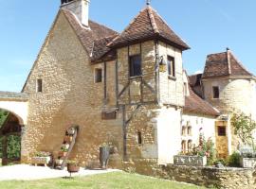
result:
[[[134,21],[109,45],[123,46],[150,39],[171,43],[182,50],[190,48],[150,6],[142,9]]]

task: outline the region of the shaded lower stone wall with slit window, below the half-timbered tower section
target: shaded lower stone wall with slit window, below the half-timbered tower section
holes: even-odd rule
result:
[[[126,107],[126,117],[137,106]],[[157,106],[141,106],[134,114],[131,122],[127,125],[127,155],[128,159],[157,159],[157,122],[155,120]],[[141,144],[138,143],[138,133],[141,134]]]

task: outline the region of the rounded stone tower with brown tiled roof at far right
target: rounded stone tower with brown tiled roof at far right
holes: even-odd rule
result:
[[[208,55],[204,73],[191,79],[193,91],[222,114],[216,121],[216,146],[225,157],[240,145],[230,124],[230,114],[245,112],[256,119],[256,77],[227,48]]]

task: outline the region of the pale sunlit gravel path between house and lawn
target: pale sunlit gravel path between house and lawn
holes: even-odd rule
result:
[[[88,175],[110,173],[114,171],[119,170],[84,170],[81,168],[79,173],[72,174],[72,176],[82,177]],[[55,170],[48,167],[30,166],[27,164],[0,167],[0,180],[43,180],[68,176],[69,173],[66,170]]]

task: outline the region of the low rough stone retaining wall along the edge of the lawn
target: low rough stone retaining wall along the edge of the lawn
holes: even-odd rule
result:
[[[157,165],[155,160],[124,163],[124,170],[166,180],[184,181],[200,186],[226,189],[256,189],[255,170],[185,165]]]

